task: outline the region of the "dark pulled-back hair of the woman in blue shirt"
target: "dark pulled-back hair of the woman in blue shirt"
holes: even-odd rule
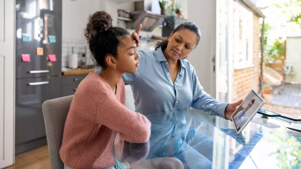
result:
[[[198,42],[196,44],[196,46],[197,46],[198,43],[200,42],[200,39],[201,39],[201,29],[198,26],[198,24],[196,24],[194,22],[181,23],[180,25],[177,26],[177,28],[175,28],[175,30],[172,31],[172,34],[177,32],[177,31],[180,31],[182,29],[188,29],[188,30],[194,32],[197,35],[197,37],[198,37]],[[155,50],[159,49],[160,47],[161,47],[162,50],[164,50],[164,49],[166,49],[167,44],[168,44],[167,39],[163,40],[162,42],[157,42],[157,44],[155,46]]]

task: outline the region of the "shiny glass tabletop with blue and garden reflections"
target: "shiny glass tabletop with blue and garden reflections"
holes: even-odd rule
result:
[[[180,161],[185,169],[301,168],[300,132],[286,127],[293,123],[275,117],[265,119],[256,114],[239,135],[231,121],[200,110],[147,117],[152,123],[149,142],[125,141],[119,156],[113,146],[119,169],[124,169],[122,162],[140,169],[173,168],[168,167],[168,161],[173,160]]]

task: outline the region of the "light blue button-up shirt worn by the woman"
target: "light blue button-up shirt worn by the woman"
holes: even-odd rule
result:
[[[131,85],[136,112],[151,115],[192,107],[225,118],[228,104],[215,100],[203,90],[194,67],[186,59],[181,59],[177,78],[172,83],[161,48],[151,52],[138,51],[138,54],[141,57],[138,71],[135,74],[125,73],[122,77],[124,83]],[[97,67],[95,71],[100,69]]]

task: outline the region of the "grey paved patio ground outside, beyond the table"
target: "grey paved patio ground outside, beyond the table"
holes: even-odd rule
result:
[[[301,109],[301,85],[285,83],[279,91],[279,95],[273,94],[273,105]]]

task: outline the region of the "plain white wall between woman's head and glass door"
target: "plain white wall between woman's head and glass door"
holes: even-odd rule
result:
[[[215,54],[216,4],[215,0],[187,0],[188,21],[199,25],[202,38],[198,46],[188,55],[204,90],[215,97],[215,74],[212,58]]]

